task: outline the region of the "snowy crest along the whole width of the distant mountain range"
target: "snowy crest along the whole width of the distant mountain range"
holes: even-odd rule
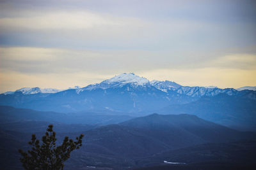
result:
[[[237,90],[236,89],[219,89],[218,87],[215,87],[215,86],[188,87],[188,86],[179,85],[178,83],[175,83],[173,81],[168,81],[168,80],[148,81],[147,78],[137,76],[134,73],[122,73],[117,76],[114,76],[113,78],[109,78],[108,80],[104,80],[101,83],[95,83],[83,88],[76,86],[74,88],[69,88],[69,89],[75,89],[76,93],[80,94],[80,92],[83,92],[84,90],[118,88],[118,87],[123,87],[124,85],[127,85],[127,84],[131,85],[134,88],[155,87],[158,90],[166,92],[167,95],[170,95],[170,93],[173,94],[173,92],[176,92],[177,94],[182,94],[182,95],[191,96],[191,97],[216,96],[222,93],[232,96],[232,95],[236,95],[237,90],[244,90],[244,89],[256,90],[256,87],[241,87]],[[65,89],[65,90],[68,90],[68,89]],[[40,89],[39,87],[34,87],[34,88],[24,87],[22,89],[16,90],[15,92],[22,92],[22,94],[38,94],[38,93],[56,93],[60,91],[63,91],[63,90],[50,89],[50,88]],[[4,94],[5,95],[14,94],[15,92],[5,92]]]

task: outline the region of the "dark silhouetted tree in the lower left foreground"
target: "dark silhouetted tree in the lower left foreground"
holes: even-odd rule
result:
[[[63,140],[62,145],[56,146],[56,132],[52,130],[53,125],[49,125],[45,135],[42,137],[42,144],[36,139],[36,135],[32,134],[31,150],[24,152],[19,150],[22,157],[20,162],[25,169],[63,169],[64,162],[70,157],[70,153],[82,146],[83,134],[76,138],[76,141],[68,139]]]

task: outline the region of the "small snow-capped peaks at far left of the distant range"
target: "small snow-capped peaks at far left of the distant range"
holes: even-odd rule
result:
[[[52,89],[52,88],[45,88],[41,89],[39,87],[24,87],[19,90],[16,90],[15,92],[22,92],[22,94],[38,94],[38,93],[56,93],[60,92],[61,90],[59,89]],[[14,94],[15,92],[5,92],[4,94]]]

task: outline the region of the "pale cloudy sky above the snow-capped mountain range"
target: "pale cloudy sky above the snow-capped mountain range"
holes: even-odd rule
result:
[[[256,1],[0,0],[0,92],[121,73],[256,86]]]

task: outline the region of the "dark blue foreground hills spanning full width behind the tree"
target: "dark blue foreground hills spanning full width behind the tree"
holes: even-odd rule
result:
[[[3,159],[0,163],[3,167],[20,169],[17,149],[26,149],[32,129],[40,138],[46,127],[45,122],[13,122],[1,125],[0,153]],[[83,169],[86,166],[131,168],[161,165],[164,160],[182,160],[189,164],[211,160],[215,164],[229,164],[231,159],[233,163],[236,161],[236,165],[246,163],[247,166],[252,166],[252,162],[241,159],[236,152],[241,156],[252,154],[252,150],[255,150],[253,140],[256,139],[255,133],[239,132],[186,114],[152,114],[100,127],[54,123],[54,129],[58,139],[63,139],[66,135],[74,138],[81,132],[85,135],[83,147],[72,154],[73,159],[68,160],[67,169]],[[246,143],[244,140],[251,142]],[[61,140],[57,141],[60,142]],[[237,145],[236,143],[243,146],[236,147],[234,152],[230,150],[230,145]],[[208,156],[202,157],[202,154]]]

